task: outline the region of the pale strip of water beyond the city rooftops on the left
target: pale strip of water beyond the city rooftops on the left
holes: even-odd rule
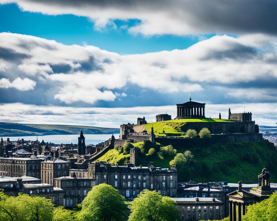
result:
[[[78,137],[80,134],[70,134],[70,135],[46,135],[46,136],[38,136],[38,141],[42,142],[51,142],[54,144],[77,144],[78,143]],[[84,134],[85,136],[85,144],[98,144],[105,140],[108,140],[112,137],[112,134]],[[115,139],[119,138],[119,134],[114,134]],[[22,138],[24,140],[37,140],[37,136],[21,136],[21,137],[3,137],[3,140],[7,140],[7,138],[10,138],[10,141],[16,141],[21,140]],[[0,137],[1,139],[1,137]]]

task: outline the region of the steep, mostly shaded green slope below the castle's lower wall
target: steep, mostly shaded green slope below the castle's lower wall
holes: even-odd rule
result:
[[[199,138],[201,139],[201,138]],[[265,167],[272,174],[271,182],[277,182],[277,150],[273,143],[268,140],[243,143],[214,144],[205,146],[192,146],[182,148],[173,146],[177,153],[191,151],[194,155],[189,165],[179,169],[178,181],[194,180],[198,182],[234,182],[242,180],[244,183],[256,183],[257,175]],[[158,152],[162,145],[156,145],[156,153],[148,156],[148,150],[152,147],[151,142],[143,141],[135,143],[139,149],[139,159],[137,165],[149,165],[150,162],[155,166],[168,168],[173,156],[159,157]],[[141,153],[143,152],[143,153]],[[119,163],[124,165],[130,155],[119,154],[115,149],[109,150],[101,157],[101,161]],[[100,159],[99,159],[100,160]]]

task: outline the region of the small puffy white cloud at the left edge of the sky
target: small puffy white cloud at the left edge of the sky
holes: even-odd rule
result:
[[[29,78],[21,79],[20,77],[17,77],[12,82],[10,82],[10,80],[6,78],[0,79],[0,88],[13,87],[15,89],[18,89],[19,91],[29,91],[29,90],[33,90],[35,85],[36,85],[36,82]]]

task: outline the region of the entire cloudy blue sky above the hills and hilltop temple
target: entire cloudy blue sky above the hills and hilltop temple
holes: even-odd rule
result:
[[[0,0],[0,121],[118,127],[251,111],[277,122],[277,2]]]

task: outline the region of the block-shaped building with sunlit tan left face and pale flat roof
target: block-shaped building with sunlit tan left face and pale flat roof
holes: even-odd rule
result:
[[[61,159],[41,162],[41,181],[53,185],[53,178],[68,176],[69,162]]]

